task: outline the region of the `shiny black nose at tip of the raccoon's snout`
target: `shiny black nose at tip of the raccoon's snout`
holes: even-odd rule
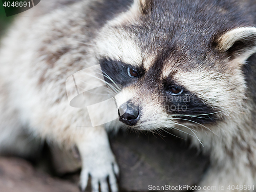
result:
[[[123,103],[118,109],[119,121],[126,125],[136,125],[139,121],[139,107],[135,106],[131,101]]]

